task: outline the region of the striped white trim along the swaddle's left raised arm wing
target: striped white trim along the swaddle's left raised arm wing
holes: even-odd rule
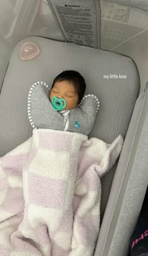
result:
[[[36,126],[33,123],[33,118],[31,116],[31,111],[30,111],[30,108],[31,108],[31,96],[32,96],[32,92],[33,92],[34,87],[36,87],[38,85],[46,86],[46,88],[48,88],[48,90],[50,91],[50,88],[49,88],[48,84],[46,84],[46,82],[34,82],[34,84],[29,89],[29,94],[28,94],[28,117],[29,117],[29,122],[30,122],[31,126],[33,127],[33,129],[37,129],[37,128],[36,128]]]

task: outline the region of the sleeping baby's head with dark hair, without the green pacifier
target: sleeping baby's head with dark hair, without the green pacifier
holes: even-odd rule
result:
[[[64,99],[66,106],[62,110],[74,109],[80,104],[86,89],[85,80],[75,70],[65,70],[57,75],[50,91],[50,101],[53,96]]]

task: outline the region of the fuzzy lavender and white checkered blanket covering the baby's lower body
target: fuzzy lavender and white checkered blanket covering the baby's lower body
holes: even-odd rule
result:
[[[92,256],[100,226],[100,178],[123,138],[107,144],[34,129],[0,159],[0,255]]]

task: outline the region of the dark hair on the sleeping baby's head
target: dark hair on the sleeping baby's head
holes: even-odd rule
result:
[[[55,77],[51,89],[55,82],[69,81],[75,87],[75,91],[78,92],[78,104],[81,102],[86,89],[85,80],[82,75],[75,70],[65,70]]]

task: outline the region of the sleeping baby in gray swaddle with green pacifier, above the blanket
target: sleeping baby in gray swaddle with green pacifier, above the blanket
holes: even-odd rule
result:
[[[95,123],[100,103],[93,94],[84,96],[85,89],[85,79],[75,70],[61,72],[51,87],[36,82],[29,92],[31,109],[30,101],[28,103],[28,116],[33,128],[88,135]]]

